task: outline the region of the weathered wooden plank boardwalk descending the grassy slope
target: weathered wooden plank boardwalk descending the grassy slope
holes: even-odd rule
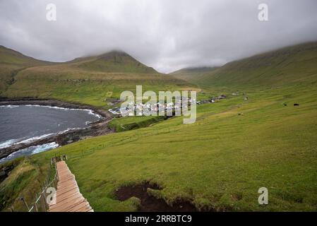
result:
[[[49,212],[93,212],[88,201],[80,194],[75,176],[65,161],[56,162],[59,176],[56,204],[49,205]]]

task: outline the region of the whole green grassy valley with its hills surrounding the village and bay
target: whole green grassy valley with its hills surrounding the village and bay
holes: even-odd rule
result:
[[[201,211],[317,210],[317,42],[216,69],[170,74],[118,52],[63,64],[32,60],[16,73],[14,83],[8,82],[6,70],[22,64],[4,62],[6,54],[7,49],[0,55],[0,95],[6,98],[47,98],[107,110],[108,102],[136,85],[155,92],[200,90],[198,100],[227,98],[197,105],[193,124],[183,124],[183,117],[115,118],[109,126],[116,133],[1,165],[14,165],[0,184],[1,210],[22,210],[18,196],[32,203],[56,155],[67,155],[80,192],[95,211],[140,210],[140,198],[116,196],[119,189],[140,184],[151,185],[147,193],[169,206],[191,203]],[[268,205],[258,204],[263,186]]]

